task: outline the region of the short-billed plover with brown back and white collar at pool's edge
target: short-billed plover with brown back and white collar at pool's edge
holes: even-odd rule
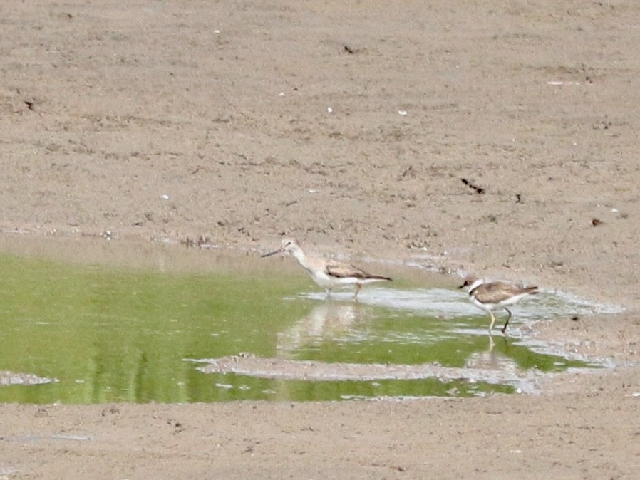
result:
[[[487,282],[482,280],[482,278],[473,277],[465,278],[465,283],[458,288],[465,287],[468,289],[470,301],[491,315],[489,333],[491,333],[491,329],[495,323],[494,310],[504,308],[507,313],[509,313],[505,326],[502,327],[502,333],[505,333],[509,320],[511,319],[511,311],[507,308],[507,305],[512,305],[526,296],[538,293],[537,287],[517,286],[502,281]]]

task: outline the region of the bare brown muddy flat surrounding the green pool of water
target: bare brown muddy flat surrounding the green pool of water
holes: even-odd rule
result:
[[[286,234],[625,309],[536,325],[616,365],[542,395],[0,405],[0,479],[637,476],[640,6],[0,12],[4,235],[258,252]]]

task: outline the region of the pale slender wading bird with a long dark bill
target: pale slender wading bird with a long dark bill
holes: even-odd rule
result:
[[[371,275],[371,273],[366,273],[366,271],[350,264],[344,264],[333,259],[305,255],[296,239],[283,239],[278,250],[270,251],[268,254],[262,255],[262,257],[284,253],[294,256],[298,263],[309,272],[314,282],[324,287],[328,297],[331,296],[331,288],[336,286],[355,285],[356,294],[353,298],[357,298],[360,289],[365,283],[391,281],[391,278],[387,276]]]

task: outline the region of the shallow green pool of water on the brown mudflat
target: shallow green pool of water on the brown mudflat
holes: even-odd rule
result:
[[[508,393],[517,385],[482,378],[307,380],[198,368],[239,353],[328,365],[482,365],[519,372],[515,377],[586,365],[535,353],[517,340],[490,339],[482,315],[448,317],[396,305],[394,298],[412,292],[402,283],[363,290],[359,303],[350,293],[327,301],[301,270],[279,274],[268,265],[161,271],[0,255],[0,371],[52,380],[0,387],[0,402],[468,396]],[[423,298],[425,291],[412,295]]]

